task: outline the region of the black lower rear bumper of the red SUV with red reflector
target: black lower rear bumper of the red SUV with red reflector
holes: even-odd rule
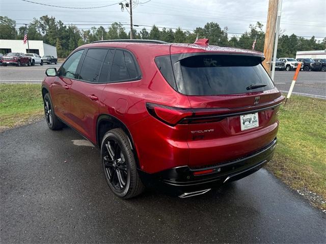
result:
[[[241,179],[259,170],[273,158],[276,143],[277,139],[275,138],[254,154],[206,168],[182,166],[154,174],[140,171],[140,174],[146,186],[159,188],[172,195],[180,196],[185,192],[207,190],[224,182]],[[196,172],[205,170],[210,173],[194,175]]]

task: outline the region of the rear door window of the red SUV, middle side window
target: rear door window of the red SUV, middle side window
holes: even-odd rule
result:
[[[97,82],[107,49],[88,49],[80,69],[79,79]]]

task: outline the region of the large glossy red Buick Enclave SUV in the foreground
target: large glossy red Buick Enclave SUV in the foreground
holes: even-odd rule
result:
[[[46,123],[66,124],[98,146],[107,184],[121,198],[145,186],[203,194],[273,157],[284,97],[262,60],[261,52],[208,39],[93,42],[46,70]]]

